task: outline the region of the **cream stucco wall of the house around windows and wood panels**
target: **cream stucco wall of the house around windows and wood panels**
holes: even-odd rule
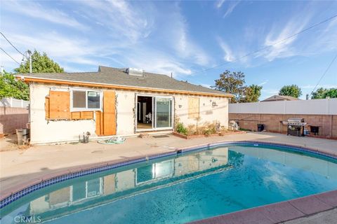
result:
[[[98,138],[95,134],[95,118],[93,120],[46,120],[44,109],[45,97],[51,87],[54,90],[69,90],[67,85],[46,85],[41,83],[30,84],[31,96],[31,144],[57,143],[63,141],[77,141],[79,134],[91,132],[91,139]],[[86,87],[85,89],[91,89]],[[95,88],[95,90],[98,90]],[[103,89],[104,90],[104,89]],[[136,135],[136,92],[128,90],[114,90],[116,92],[117,111],[117,135]],[[183,94],[152,94],[149,92],[137,92],[137,94],[172,96],[174,115],[184,125],[195,125],[213,121],[227,127],[228,123],[228,99],[220,97],[199,97],[200,119],[188,118],[188,97]],[[218,106],[212,106],[216,102]]]

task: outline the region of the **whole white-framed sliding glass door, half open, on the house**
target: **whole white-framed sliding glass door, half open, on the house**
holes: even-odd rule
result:
[[[172,116],[173,97],[137,96],[137,130],[171,129]]]

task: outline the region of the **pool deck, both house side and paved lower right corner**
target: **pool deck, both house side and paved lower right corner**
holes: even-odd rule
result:
[[[130,138],[126,139],[126,142],[122,145],[103,145],[90,142],[89,144],[32,146],[27,150],[0,152],[0,196],[1,199],[3,199],[26,186],[39,183],[45,179],[50,179],[53,176],[60,176],[81,169],[97,167],[98,165],[107,164],[107,162],[167,153],[176,151],[178,148],[211,144],[217,141],[264,141],[278,144],[290,144],[293,146],[313,148],[331,155],[337,155],[336,140],[291,137],[284,134],[267,132],[231,134],[223,137],[188,140],[173,135],[164,138]],[[5,139],[0,139],[0,149],[6,150],[6,147],[13,148],[13,146],[8,146]],[[317,213],[320,214],[322,211],[330,211],[329,217],[333,216],[333,218],[336,218],[335,220],[337,220],[337,210],[334,209],[337,207],[337,191],[324,194],[296,199],[298,200],[297,202],[296,200],[291,200],[289,202],[281,202],[270,204],[265,207],[239,211],[233,214],[198,221],[197,223],[247,223],[247,221],[249,221],[248,223],[260,224],[284,223],[285,221],[291,220],[293,223],[296,220],[299,221],[298,223],[315,223],[314,221],[317,220],[319,220],[319,223],[324,223],[324,218],[328,215],[318,216],[318,219],[316,216],[313,219],[308,219],[312,215]],[[328,201],[324,201],[324,199]],[[307,211],[305,208],[309,210]],[[274,218],[270,218],[266,214],[269,214]],[[223,219],[224,217],[225,220]],[[249,219],[245,219],[244,217]],[[305,221],[303,217],[307,218],[308,222]]]

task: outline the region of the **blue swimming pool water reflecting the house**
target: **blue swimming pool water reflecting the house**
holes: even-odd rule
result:
[[[185,223],[336,189],[335,160],[229,146],[37,190],[1,209],[1,223],[18,217],[44,223]]]

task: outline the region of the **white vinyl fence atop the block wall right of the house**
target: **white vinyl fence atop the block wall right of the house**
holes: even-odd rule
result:
[[[336,115],[337,99],[229,104],[228,113]]]

